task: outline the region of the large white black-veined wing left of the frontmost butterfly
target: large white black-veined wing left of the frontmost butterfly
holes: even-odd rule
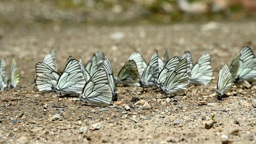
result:
[[[58,94],[78,94],[82,92],[86,81],[80,63],[76,59],[68,62],[58,78],[55,92]]]

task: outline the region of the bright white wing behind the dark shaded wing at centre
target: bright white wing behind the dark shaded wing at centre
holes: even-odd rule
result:
[[[138,72],[140,74],[139,76],[141,76],[145,68],[148,66],[142,55],[139,52],[135,51],[130,55],[127,61],[129,60],[134,60],[134,62],[137,65]]]

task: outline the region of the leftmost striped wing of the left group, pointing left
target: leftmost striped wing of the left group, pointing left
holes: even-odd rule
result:
[[[52,92],[59,74],[43,62],[36,63],[36,87],[40,92]]]

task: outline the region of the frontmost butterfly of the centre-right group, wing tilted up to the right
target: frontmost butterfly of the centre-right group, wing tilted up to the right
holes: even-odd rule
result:
[[[164,84],[159,88],[160,92],[165,95],[179,95],[186,91],[188,86],[187,60],[180,60],[174,70],[168,75]]]

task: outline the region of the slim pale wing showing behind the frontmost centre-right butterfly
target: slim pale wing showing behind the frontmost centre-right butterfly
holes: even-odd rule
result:
[[[178,58],[177,56],[174,56],[173,58],[167,61],[167,63],[165,64],[164,68],[162,68],[157,78],[157,86],[159,88],[163,86],[166,78],[174,70],[174,68],[177,66],[179,62],[180,58]]]

